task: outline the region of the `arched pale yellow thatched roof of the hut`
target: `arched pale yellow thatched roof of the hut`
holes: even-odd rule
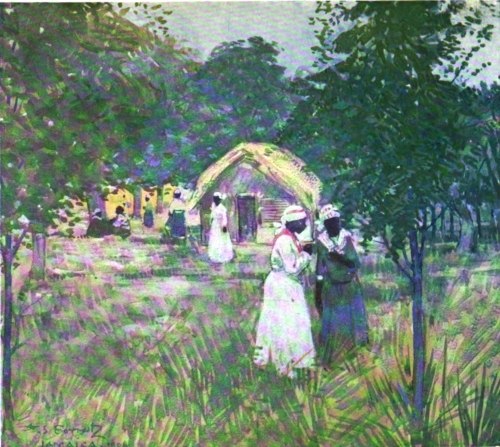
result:
[[[255,168],[273,179],[300,200],[309,209],[316,208],[321,182],[306,169],[305,163],[287,149],[273,144],[241,143],[201,174],[196,190],[189,201],[189,209],[196,207],[203,196],[234,166],[250,162]]]

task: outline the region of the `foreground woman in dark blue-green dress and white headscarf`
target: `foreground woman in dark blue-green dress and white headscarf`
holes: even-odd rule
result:
[[[341,351],[368,343],[368,322],[352,234],[341,227],[340,213],[333,205],[321,208],[319,218],[316,304],[323,361],[328,365]]]

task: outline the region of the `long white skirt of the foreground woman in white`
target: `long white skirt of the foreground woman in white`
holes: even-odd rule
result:
[[[254,363],[271,362],[280,374],[293,377],[294,368],[314,366],[315,355],[302,284],[285,272],[272,271],[264,283]]]

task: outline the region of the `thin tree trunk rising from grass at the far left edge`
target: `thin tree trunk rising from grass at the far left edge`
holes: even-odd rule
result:
[[[2,402],[3,402],[3,435],[14,432],[14,406],[12,404],[12,235],[5,235],[5,254],[3,256],[4,271],[4,303],[2,330]]]

